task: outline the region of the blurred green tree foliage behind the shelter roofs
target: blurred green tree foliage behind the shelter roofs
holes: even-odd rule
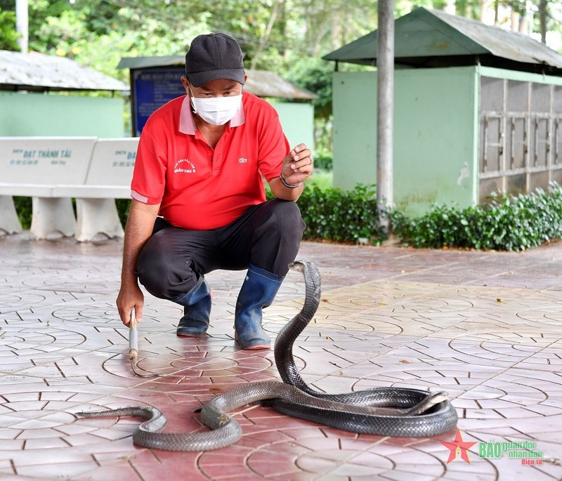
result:
[[[334,65],[321,57],[376,29],[377,5],[377,0],[29,0],[29,46],[126,81],[127,72],[117,70],[122,57],[183,55],[196,35],[226,32],[240,42],[247,68],[272,70],[318,95],[317,131],[329,147],[325,131]],[[426,6],[455,8],[471,18],[492,11],[498,22],[507,21],[500,12],[527,18],[534,9],[544,13],[549,29],[560,28],[553,12],[562,15],[559,0],[396,0],[395,5],[396,17]],[[15,0],[0,0],[0,48],[19,50],[14,12]],[[542,17],[532,18],[540,32]]]

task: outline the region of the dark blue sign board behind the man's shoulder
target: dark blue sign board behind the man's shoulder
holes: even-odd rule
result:
[[[136,69],[131,71],[133,88],[133,136],[138,137],[158,107],[169,100],[185,95],[181,76],[183,67]]]

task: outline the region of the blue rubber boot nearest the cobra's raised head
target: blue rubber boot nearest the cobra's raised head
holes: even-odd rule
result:
[[[250,264],[238,294],[234,317],[236,340],[242,349],[270,348],[271,339],[261,328],[261,310],[273,303],[283,279]]]

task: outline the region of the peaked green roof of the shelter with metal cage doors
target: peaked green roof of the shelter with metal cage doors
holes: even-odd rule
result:
[[[396,66],[447,67],[481,63],[489,67],[562,74],[562,55],[527,35],[429,8],[417,8],[395,22]],[[377,64],[375,30],[339,48],[325,60]]]

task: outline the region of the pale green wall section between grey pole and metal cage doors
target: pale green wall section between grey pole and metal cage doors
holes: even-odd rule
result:
[[[476,199],[475,67],[398,70],[395,76],[394,204],[419,214],[433,203]]]

